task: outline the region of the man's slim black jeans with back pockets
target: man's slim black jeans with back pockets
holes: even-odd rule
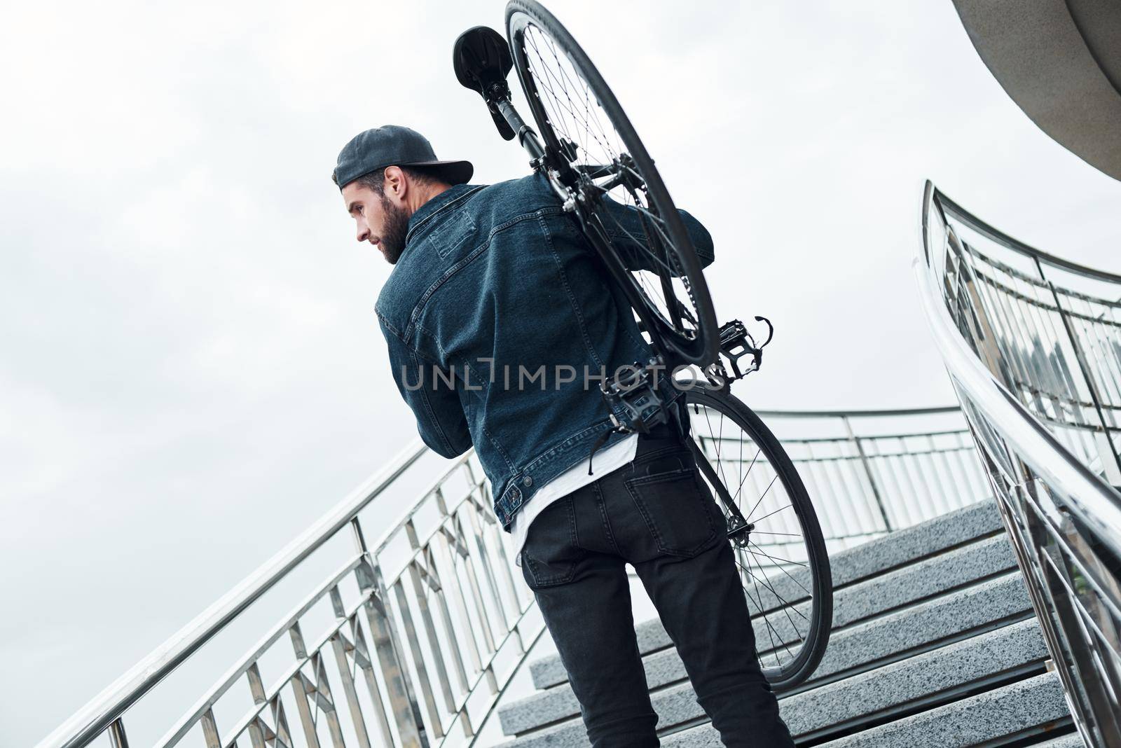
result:
[[[548,506],[521,571],[593,746],[658,746],[624,563],[634,567],[725,746],[793,747],[759,670],[723,513],[669,427],[634,460]]]

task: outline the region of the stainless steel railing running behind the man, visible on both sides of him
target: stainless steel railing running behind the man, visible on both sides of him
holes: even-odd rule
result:
[[[832,549],[989,495],[956,408],[760,413]],[[370,543],[378,498],[406,508]],[[473,745],[544,633],[510,551],[474,455],[415,443],[39,748]],[[207,675],[173,682],[188,665]]]

